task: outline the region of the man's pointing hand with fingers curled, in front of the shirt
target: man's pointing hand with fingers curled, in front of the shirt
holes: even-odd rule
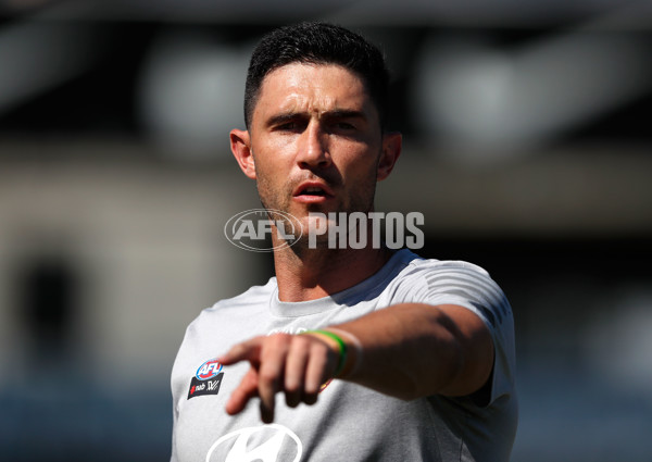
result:
[[[226,403],[226,412],[241,412],[249,400],[260,398],[261,419],[274,421],[274,400],[285,394],[289,407],[314,404],[322,384],[335,374],[339,350],[334,340],[318,334],[260,336],[234,346],[218,358],[224,365],[249,361],[251,367]]]

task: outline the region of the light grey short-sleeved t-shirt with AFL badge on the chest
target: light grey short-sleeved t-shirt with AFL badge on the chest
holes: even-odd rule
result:
[[[323,328],[403,302],[457,304],[480,316],[496,349],[488,402],[442,396],[402,401],[333,380],[314,405],[291,409],[279,395],[271,425],[260,421],[255,400],[236,416],[226,414],[249,367],[214,360],[233,345]],[[188,326],[172,372],[172,461],[507,461],[517,422],[514,372],[512,309],[487,272],[471,263],[401,250],[362,283],[304,302],[279,301],[272,278],[202,311]]]

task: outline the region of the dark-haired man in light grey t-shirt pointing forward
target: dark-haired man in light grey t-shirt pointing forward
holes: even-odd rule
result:
[[[385,129],[387,86],[380,52],[347,29],[309,23],[263,38],[247,130],[230,143],[273,218],[314,230],[316,213],[374,210],[401,152]],[[188,327],[172,460],[507,461],[513,321],[487,273],[371,238],[290,247],[283,235],[272,233],[276,277]]]

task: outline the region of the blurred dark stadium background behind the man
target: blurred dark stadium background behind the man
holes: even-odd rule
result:
[[[512,461],[650,460],[650,2],[4,0],[0,13],[2,460],[168,458],[186,325],[271,274],[223,234],[259,205],[227,133],[243,125],[254,42],[300,20],[387,52],[406,146],[378,210],[424,212],[422,253],[487,267],[512,301]]]

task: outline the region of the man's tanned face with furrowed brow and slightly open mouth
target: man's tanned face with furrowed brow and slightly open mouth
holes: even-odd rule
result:
[[[309,212],[373,210],[376,182],[389,174],[379,171],[378,112],[363,82],[338,65],[292,63],[269,73],[249,142],[249,176],[263,205],[303,223]]]

